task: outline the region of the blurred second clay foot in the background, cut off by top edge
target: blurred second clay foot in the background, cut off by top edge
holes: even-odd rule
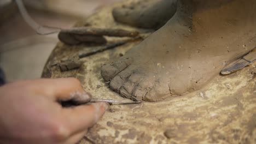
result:
[[[176,13],[177,0],[141,0],[114,8],[115,21],[140,28],[160,28]]]

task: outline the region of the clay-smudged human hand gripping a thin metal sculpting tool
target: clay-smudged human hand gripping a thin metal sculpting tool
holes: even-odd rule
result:
[[[72,95],[84,93],[82,95]],[[107,103],[62,107],[90,99],[77,79],[39,79],[0,87],[0,143],[75,143],[108,109]]]

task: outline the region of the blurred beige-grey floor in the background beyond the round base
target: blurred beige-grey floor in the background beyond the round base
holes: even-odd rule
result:
[[[98,7],[118,0],[75,0],[77,4],[73,5],[72,9],[67,7],[68,2],[71,1],[59,1],[59,3],[54,1],[53,4],[51,4],[53,1],[41,0],[40,2],[42,1],[48,5],[47,9],[42,10],[42,8],[37,8],[36,4],[30,4],[30,7],[32,5],[37,9],[28,10],[31,17],[41,25],[67,28],[77,21],[77,17],[85,17]],[[79,2],[80,4],[78,4]],[[57,14],[54,9],[59,10],[60,13]],[[2,34],[0,38],[0,67],[5,73],[7,82],[40,78],[44,64],[58,41],[57,34],[37,35],[18,12],[0,25],[0,32]]]

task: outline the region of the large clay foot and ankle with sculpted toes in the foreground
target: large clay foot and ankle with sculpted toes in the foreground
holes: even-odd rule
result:
[[[146,101],[184,95],[256,46],[256,1],[183,0],[178,5],[165,26],[103,65],[102,77],[113,91]]]

